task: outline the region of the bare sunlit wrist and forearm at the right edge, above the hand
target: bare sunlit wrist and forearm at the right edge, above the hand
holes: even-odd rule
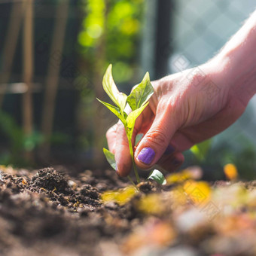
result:
[[[256,93],[256,11],[230,39],[216,59],[224,63],[224,81],[243,105]]]

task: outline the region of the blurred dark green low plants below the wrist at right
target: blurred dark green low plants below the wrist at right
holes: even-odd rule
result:
[[[188,165],[202,166],[206,171],[207,178],[223,179],[223,166],[233,163],[239,172],[239,177],[244,180],[256,178],[256,148],[246,136],[236,136],[229,145],[227,142],[213,143],[209,139],[200,144],[194,145],[185,152]]]

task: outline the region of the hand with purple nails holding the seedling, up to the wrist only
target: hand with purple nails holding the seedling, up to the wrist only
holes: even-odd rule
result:
[[[225,62],[215,58],[152,82],[154,95],[134,130],[133,145],[136,135],[144,134],[135,151],[137,166],[148,169],[157,163],[175,170],[184,161],[182,151],[225,130],[242,114],[246,104],[225,75]],[[132,160],[123,124],[112,126],[107,139],[118,174],[128,175]]]

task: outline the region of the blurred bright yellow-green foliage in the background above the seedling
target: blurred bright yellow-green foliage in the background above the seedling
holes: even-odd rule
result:
[[[102,72],[114,63],[117,83],[130,81],[134,75],[138,44],[142,29],[144,0],[87,0],[85,17],[78,35],[81,53],[89,66],[97,59],[100,44],[104,44]],[[90,68],[89,68],[90,69]],[[88,72],[88,75],[90,72]]]

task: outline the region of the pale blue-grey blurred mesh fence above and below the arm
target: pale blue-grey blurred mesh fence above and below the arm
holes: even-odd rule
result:
[[[178,0],[175,1],[174,6],[175,11],[172,11],[174,32],[172,41],[169,42],[172,44],[173,52],[169,57],[169,73],[182,72],[215,56],[255,10],[256,2]],[[256,151],[255,120],[256,97],[251,100],[242,117],[224,133],[215,136],[213,142],[213,146],[219,151],[223,151],[224,148],[229,151],[226,157],[225,154],[219,156],[219,162],[222,164],[225,161],[236,162],[242,172],[247,172],[247,175],[251,172],[254,177],[255,154],[251,152]],[[216,154],[212,154],[213,158],[215,156]],[[239,158],[242,159],[243,164]]]

